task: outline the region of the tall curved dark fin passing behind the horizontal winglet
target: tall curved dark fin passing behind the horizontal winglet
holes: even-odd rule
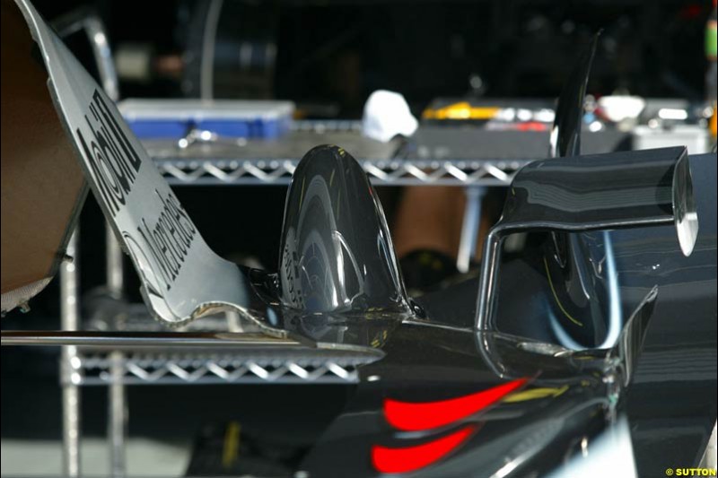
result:
[[[600,32],[574,66],[558,98],[550,137],[551,158],[581,154],[586,88],[599,39]],[[543,247],[544,271],[550,293],[559,306],[550,317],[558,342],[576,350],[611,346],[623,325],[623,317],[617,306],[620,298],[609,231],[554,230],[545,233]],[[559,283],[556,287],[554,282],[563,285]]]

